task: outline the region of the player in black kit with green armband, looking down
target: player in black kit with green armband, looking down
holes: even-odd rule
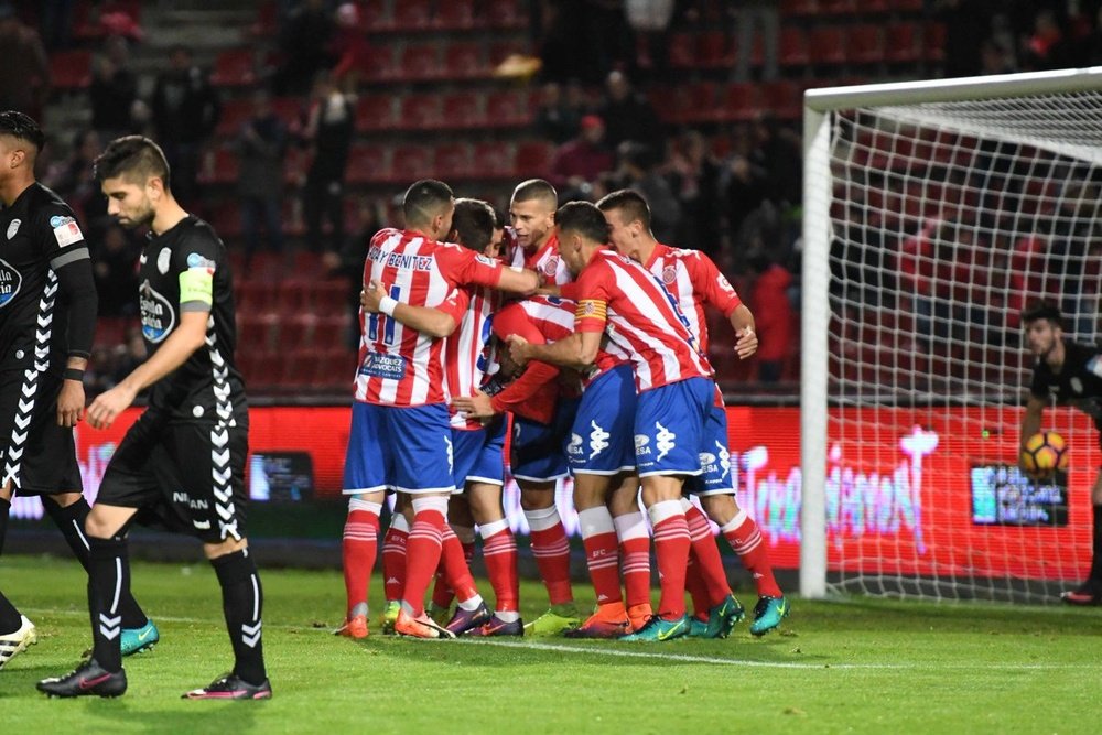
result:
[[[109,426],[145,388],[149,408],[111,457],[86,522],[93,656],[69,674],[39,682],[39,689],[54,696],[126,691],[116,601],[130,586],[126,537],[137,519],[197,536],[222,585],[234,669],[184,696],[268,699],[263,596],[245,538],[249,414],[234,366],[226,248],[209,225],[173,198],[164,153],[148,138],[111,141],[96,159],[96,179],[119,224],[151,230],[138,279],[149,359],[93,401],[88,421]]]

